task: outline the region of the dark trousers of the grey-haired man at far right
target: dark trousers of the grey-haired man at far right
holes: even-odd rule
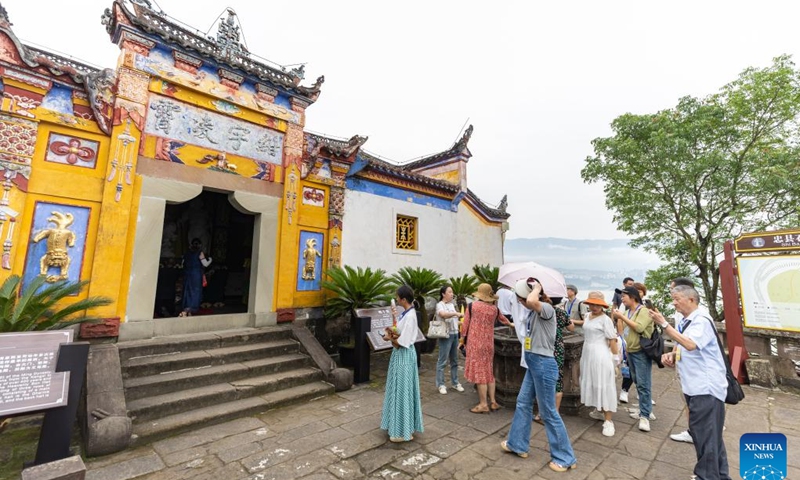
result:
[[[689,434],[694,441],[699,480],[731,480],[728,453],[722,440],[725,403],[711,395],[684,395],[689,407]]]

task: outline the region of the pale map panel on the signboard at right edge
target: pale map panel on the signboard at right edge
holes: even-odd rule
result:
[[[739,257],[744,325],[800,332],[800,256]]]

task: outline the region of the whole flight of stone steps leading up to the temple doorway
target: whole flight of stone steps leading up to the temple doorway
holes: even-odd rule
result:
[[[131,445],[333,393],[291,327],[117,344]]]

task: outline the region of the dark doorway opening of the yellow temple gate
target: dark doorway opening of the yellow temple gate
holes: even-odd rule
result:
[[[253,228],[254,217],[233,208],[227,194],[203,191],[168,204],[154,317],[247,312]]]

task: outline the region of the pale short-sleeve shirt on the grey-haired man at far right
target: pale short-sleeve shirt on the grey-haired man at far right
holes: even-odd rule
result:
[[[711,318],[705,312],[695,310],[686,317],[686,321],[691,323],[684,329],[683,335],[691,338],[697,348],[689,351],[678,346],[680,360],[677,368],[681,390],[689,396],[711,395],[724,402],[728,392],[725,378],[727,370]]]

